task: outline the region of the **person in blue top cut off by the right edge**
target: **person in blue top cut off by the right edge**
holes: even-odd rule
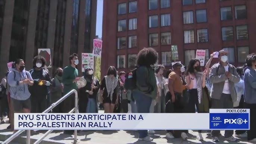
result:
[[[250,109],[250,130],[247,140],[256,142],[256,53],[249,54],[246,58],[247,67],[244,68],[244,99]]]

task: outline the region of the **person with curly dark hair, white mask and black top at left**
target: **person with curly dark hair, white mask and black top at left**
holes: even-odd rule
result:
[[[34,79],[34,85],[29,87],[31,93],[31,112],[41,113],[47,107],[47,94],[51,85],[49,73],[43,69],[46,65],[46,60],[42,56],[35,56],[33,59],[33,68],[29,71]]]

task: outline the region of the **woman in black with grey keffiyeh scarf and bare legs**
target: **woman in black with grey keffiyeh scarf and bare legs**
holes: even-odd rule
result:
[[[113,113],[119,103],[120,82],[116,76],[116,68],[110,66],[107,75],[102,79],[100,94],[104,103],[104,113]]]

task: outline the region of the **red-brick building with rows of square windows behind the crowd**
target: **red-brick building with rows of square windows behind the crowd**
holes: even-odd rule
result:
[[[153,47],[159,64],[171,66],[171,47],[187,64],[197,49],[226,49],[229,62],[241,65],[256,52],[256,0],[105,0],[102,75],[109,66],[128,71],[143,47]],[[205,62],[205,63],[206,63]]]

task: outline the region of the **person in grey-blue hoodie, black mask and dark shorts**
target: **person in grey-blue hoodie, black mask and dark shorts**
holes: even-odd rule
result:
[[[15,68],[7,76],[10,85],[10,97],[14,113],[30,113],[31,101],[28,85],[32,86],[34,81],[31,74],[24,70],[25,63],[22,59],[15,61]],[[18,130],[14,130],[13,133]]]

